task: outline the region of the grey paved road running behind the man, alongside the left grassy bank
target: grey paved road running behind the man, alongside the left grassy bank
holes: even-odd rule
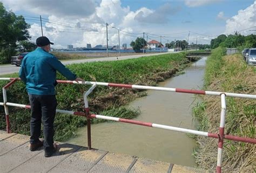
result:
[[[164,52],[164,53],[154,53],[154,54],[138,54],[138,55],[131,55],[131,56],[122,56],[122,57],[105,57],[105,58],[92,58],[92,59],[79,59],[79,60],[69,60],[69,61],[62,61],[64,65],[68,64],[79,64],[79,63],[87,63],[93,61],[114,61],[114,60],[124,60],[124,59],[133,59],[133,58],[140,58],[140,57],[149,57],[149,56],[156,56],[159,54],[166,54],[166,53],[178,53],[178,52]],[[1,65],[0,66],[0,75],[4,74],[11,74],[16,73],[19,71],[19,68],[15,65]]]

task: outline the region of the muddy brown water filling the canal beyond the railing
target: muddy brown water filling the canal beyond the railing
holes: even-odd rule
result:
[[[206,57],[187,67],[184,74],[160,82],[161,87],[201,89]],[[141,114],[134,120],[196,129],[192,107],[193,94],[147,91],[147,96],[136,99],[130,107],[139,107]],[[184,133],[120,122],[105,122],[91,126],[92,148],[107,150],[174,164],[195,166],[193,149],[196,143]],[[66,141],[87,146],[86,127],[78,136]]]

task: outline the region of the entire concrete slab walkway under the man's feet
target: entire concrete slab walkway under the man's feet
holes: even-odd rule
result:
[[[0,130],[0,172],[208,172],[68,143],[59,147],[45,158],[43,148],[29,150],[29,136]]]

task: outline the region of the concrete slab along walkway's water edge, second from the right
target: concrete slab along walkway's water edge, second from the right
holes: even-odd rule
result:
[[[154,161],[147,158],[138,158],[137,162],[133,165],[132,169],[129,171],[132,173],[137,172],[167,172],[169,170],[170,163]]]

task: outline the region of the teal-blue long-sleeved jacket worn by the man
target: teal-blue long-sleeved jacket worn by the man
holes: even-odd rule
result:
[[[55,56],[37,47],[23,58],[19,77],[26,83],[29,94],[55,95],[56,71],[69,80],[76,79],[76,74],[70,72]]]

